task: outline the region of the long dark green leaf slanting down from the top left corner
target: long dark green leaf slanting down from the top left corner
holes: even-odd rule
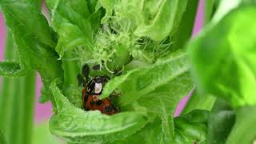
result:
[[[63,71],[54,51],[53,31],[38,8],[38,1],[2,0],[0,4],[17,46],[21,70],[38,70],[49,90],[50,82],[63,78]]]

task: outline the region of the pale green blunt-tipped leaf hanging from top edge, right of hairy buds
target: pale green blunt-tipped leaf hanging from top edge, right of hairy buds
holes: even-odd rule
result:
[[[142,11],[142,22],[134,34],[139,37],[147,36],[154,41],[166,38],[174,26],[179,2],[178,0],[146,1]]]

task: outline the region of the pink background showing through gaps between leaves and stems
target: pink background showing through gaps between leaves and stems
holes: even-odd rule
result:
[[[194,24],[193,36],[198,34],[199,30],[203,25],[203,5],[204,5],[203,2],[204,2],[203,0],[199,0],[198,13],[197,13],[197,18]],[[6,25],[2,17],[2,14],[0,13],[0,60],[3,60],[5,39],[6,39]],[[36,90],[37,99],[35,103],[35,112],[34,112],[35,122],[45,121],[46,119],[50,118],[50,115],[52,114],[50,102],[45,104],[38,103],[38,97],[40,96],[41,86],[42,86],[41,79],[37,77],[37,90]],[[178,116],[178,114],[180,114],[180,112],[182,111],[182,108],[186,105],[188,98],[189,96],[186,96],[185,98],[183,98],[181,102],[179,102],[174,116]]]

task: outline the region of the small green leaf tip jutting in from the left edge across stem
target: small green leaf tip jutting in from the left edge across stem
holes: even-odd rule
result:
[[[26,74],[16,62],[0,62],[0,75],[4,77],[21,77]]]

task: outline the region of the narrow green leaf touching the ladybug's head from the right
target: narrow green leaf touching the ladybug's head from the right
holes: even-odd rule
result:
[[[112,79],[104,87],[101,98],[108,97],[115,89],[122,91],[119,98],[121,105],[136,101],[143,95],[150,94],[154,89],[165,86],[178,76],[186,74],[189,66],[186,65],[186,54],[182,51],[173,58],[157,62],[152,66],[130,70],[127,74]]]

